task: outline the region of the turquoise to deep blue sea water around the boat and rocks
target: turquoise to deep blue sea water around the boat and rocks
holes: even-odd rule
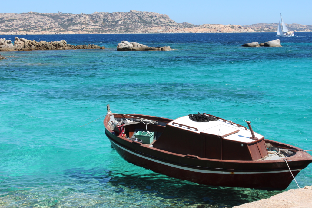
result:
[[[277,48],[240,47],[275,33],[19,35],[106,49],[1,52],[0,207],[232,207],[280,193],[198,185],[129,164],[98,118],[107,104],[170,119],[205,112],[312,150],[312,33],[295,35]],[[176,50],[116,51],[122,40]],[[312,185],[312,164],[296,180]]]

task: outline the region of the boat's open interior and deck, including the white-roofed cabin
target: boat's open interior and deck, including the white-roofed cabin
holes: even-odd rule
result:
[[[265,140],[264,136],[252,131],[248,122],[249,129],[209,114],[202,115],[216,119],[195,122],[189,116],[172,120],[136,114],[111,114],[106,125],[116,136],[132,142],[197,159],[268,161],[296,154],[296,151],[285,150],[289,149],[286,145]],[[144,143],[138,133],[148,133],[153,138]]]

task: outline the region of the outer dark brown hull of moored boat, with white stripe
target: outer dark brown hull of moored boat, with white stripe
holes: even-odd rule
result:
[[[147,145],[131,143],[126,138],[116,136],[109,128],[105,129],[105,134],[110,139],[110,143],[117,153],[125,161],[181,180],[211,186],[279,190],[287,188],[293,180],[286,162],[282,160],[229,161],[206,158],[193,159],[184,155],[150,148]],[[302,156],[307,158],[296,159],[298,157],[302,158]],[[307,152],[299,151],[298,157],[293,157],[294,160],[288,162],[294,177],[301,169],[312,162],[312,157]]]

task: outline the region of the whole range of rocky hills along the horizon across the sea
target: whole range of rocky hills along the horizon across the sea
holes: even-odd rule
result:
[[[293,27],[292,27],[293,25]],[[287,25],[288,26],[288,25]],[[155,12],[0,13],[0,34],[99,34],[99,33],[216,33],[271,32],[277,24],[249,26],[177,23]],[[311,26],[291,24],[290,29],[312,30]],[[292,29],[293,30],[293,29]]]

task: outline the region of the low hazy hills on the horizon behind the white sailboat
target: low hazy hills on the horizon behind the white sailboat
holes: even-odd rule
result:
[[[244,25],[243,27],[250,27],[256,32],[276,32],[278,23],[258,23],[252,25]],[[291,31],[301,31],[301,32],[311,32],[312,25],[300,25],[297,23],[286,24],[288,30]]]

